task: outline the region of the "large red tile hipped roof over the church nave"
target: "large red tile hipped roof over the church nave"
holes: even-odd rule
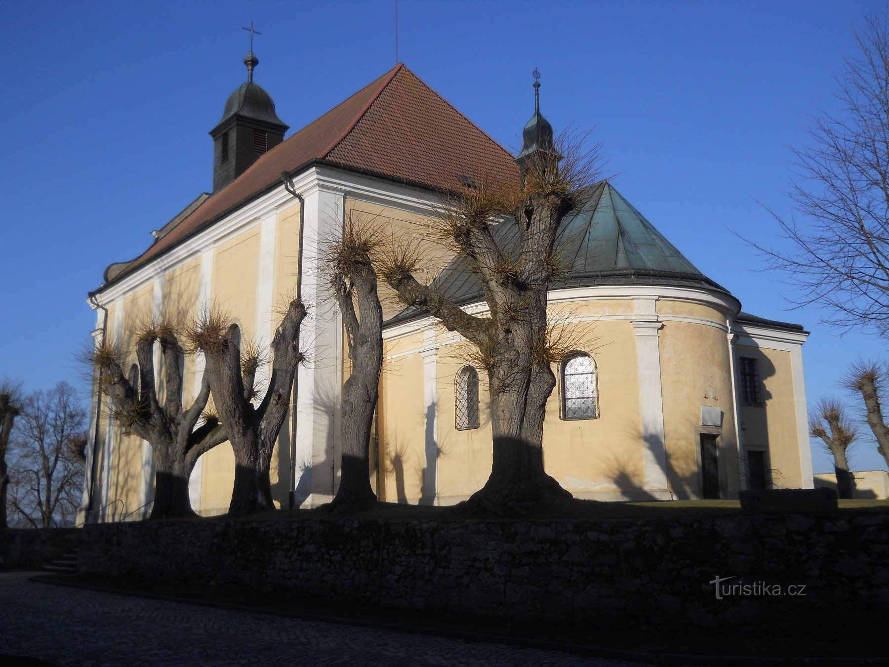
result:
[[[513,181],[518,168],[500,144],[404,65],[260,157],[109,282],[170,250],[280,182],[282,172],[320,160],[433,189],[453,189],[465,174]],[[116,268],[116,267],[115,267]]]

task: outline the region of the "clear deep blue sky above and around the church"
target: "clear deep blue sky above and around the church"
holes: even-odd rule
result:
[[[86,293],[211,188],[212,141],[255,21],[256,81],[294,130],[395,63],[385,2],[4,3],[0,377],[83,386]],[[504,146],[541,107],[593,130],[607,173],[744,309],[812,332],[810,404],[885,342],[788,312],[780,276],[734,232],[778,243],[789,146],[831,109],[831,71],[874,2],[399,2],[401,60]],[[858,469],[882,468],[869,441]],[[830,470],[816,447],[816,471]]]

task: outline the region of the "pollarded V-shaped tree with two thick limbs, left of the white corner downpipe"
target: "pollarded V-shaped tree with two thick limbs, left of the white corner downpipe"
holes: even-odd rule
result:
[[[269,479],[271,459],[290,408],[293,375],[303,358],[300,325],[305,317],[302,302],[290,301],[271,343],[271,376],[259,406],[252,403],[259,351],[245,348],[247,353],[242,356],[239,327],[229,324],[219,309],[210,309],[189,332],[192,345],[204,352],[213,404],[235,453],[230,515],[275,507]]]

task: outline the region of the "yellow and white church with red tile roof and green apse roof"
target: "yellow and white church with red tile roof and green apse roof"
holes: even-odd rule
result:
[[[396,237],[421,237],[443,190],[480,177],[515,181],[521,155],[402,64],[285,138],[286,110],[253,81],[252,52],[244,62],[247,82],[210,132],[212,193],[158,221],[144,253],[105,270],[89,299],[94,337],[134,361],[135,328],[146,314],[194,316],[216,304],[268,346],[276,313],[300,294],[308,363],[277,441],[272,491],[281,507],[311,507],[337,488],[348,377],[340,315],[318,270],[324,243],[356,218]],[[551,139],[537,107],[523,151]],[[543,454],[550,475],[574,497],[598,500],[736,498],[744,488],[812,486],[802,326],[742,312],[609,181],[568,215],[557,248],[566,269],[549,307],[584,342],[554,365]],[[459,259],[438,256],[427,274],[465,308],[484,312],[481,289]],[[403,309],[392,293],[382,296],[372,486],[386,502],[460,502],[491,471],[485,373],[458,334]],[[190,405],[203,360],[184,364]],[[107,402],[93,397],[86,518],[144,518],[151,450],[108,416]],[[199,514],[228,510],[234,472],[228,443],[201,457],[189,484]]]

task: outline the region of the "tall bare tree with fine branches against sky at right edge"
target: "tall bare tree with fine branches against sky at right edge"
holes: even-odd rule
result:
[[[871,16],[855,33],[834,93],[837,115],[813,122],[811,148],[795,151],[802,180],[791,190],[796,216],[773,214],[791,245],[755,245],[789,272],[797,305],[825,307],[825,321],[889,335],[889,31]]]

